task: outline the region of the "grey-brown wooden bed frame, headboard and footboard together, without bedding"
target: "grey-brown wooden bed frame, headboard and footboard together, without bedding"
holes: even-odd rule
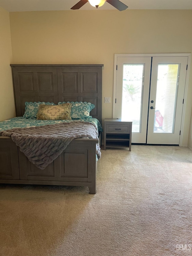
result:
[[[28,101],[87,101],[95,104],[90,115],[101,120],[102,66],[11,64],[16,116]],[[10,137],[0,137],[0,183],[88,186],[96,192],[96,143],[74,139],[44,170],[32,164]],[[100,144],[101,145],[101,144]]]

